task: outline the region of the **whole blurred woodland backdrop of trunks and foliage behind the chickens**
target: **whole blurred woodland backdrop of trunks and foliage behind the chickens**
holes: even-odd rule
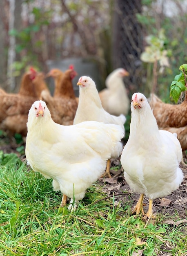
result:
[[[187,0],[2,0],[0,85],[18,90],[29,65],[92,57],[103,81],[125,67],[129,98],[155,92],[170,102],[172,80],[187,62]]]

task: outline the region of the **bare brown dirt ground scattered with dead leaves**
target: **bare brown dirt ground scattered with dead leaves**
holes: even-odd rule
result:
[[[18,145],[14,138],[10,139],[0,136],[0,150],[3,150],[4,153],[16,153],[20,159],[24,160],[25,155],[16,150],[20,146],[24,146],[24,142]],[[184,161],[187,163],[186,155],[184,155]],[[133,193],[130,190],[129,185],[123,176],[120,158],[111,159],[111,167],[114,169],[116,167],[119,168],[117,171],[111,170],[112,178],[104,177],[99,179],[100,184],[103,186],[103,191],[108,197],[113,197],[113,195],[115,195],[116,204],[129,204],[131,207],[134,207],[140,194]],[[168,195],[166,198],[155,199],[153,210],[156,214],[162,214],[168,218],[171,217],[171,219],[173,219],[172,216],[178,216],[181,220],[187,222],[187,165],[181,164],[180,167],[184,173],[184,180],[179,189]],[[124,191],[127,193],[125,196]],[[148,198],[145,197],[144,203],[144,210],[147,212],[149,206]]]

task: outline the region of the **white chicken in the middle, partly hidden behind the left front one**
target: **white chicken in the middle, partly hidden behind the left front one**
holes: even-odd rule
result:
[[[81,76],[77,85],[80,86],[79,102],[73,124],[79,124],[83,121],[98,121],[105,124],[117,124],[123,130],[123,137],[125,135],[124,123],[126,117],[120,115],[118,117],[110,115],[102,107],[96,84],[89,76]],[[122,152],[122,143],[118,142],[111,152],[112,158],[117,158]],[[107,162],[106,174],[110,175],[110,158]]]

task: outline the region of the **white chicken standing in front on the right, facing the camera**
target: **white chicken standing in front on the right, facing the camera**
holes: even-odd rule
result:
[[[134,93],[131,101],[130,134],[122,155],[125,180],[140,198],[132,213],[142,211],[144,195],[149,197],[146,218],[154,218],[152,204],[155,198],[169,195],[183,181],[179,168],[182,149],[176,134],[158,130],[156,119],[142,93]]]

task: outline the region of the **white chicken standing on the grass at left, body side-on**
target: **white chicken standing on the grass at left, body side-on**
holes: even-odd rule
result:
[[[29,110],[25,155],[31,168],[53,179],[53,188],[76,208],[86,189],[105,171],[111,150],[123,137],[120,126],[95,121],[62,126],[51,119],[44,101]],[[72,207],[72,208],[71,208]]]

